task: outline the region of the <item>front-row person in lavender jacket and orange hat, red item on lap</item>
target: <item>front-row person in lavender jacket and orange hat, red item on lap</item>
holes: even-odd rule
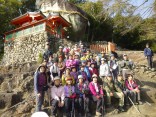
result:
[[[73,80],[71,77],[66,78],[66,84],[64,86],[66,117],[71,117],[71,114],[72,115],[74,114],[71,112],[75,105],[76,93],[75,93],[75,87],[72,82]]]

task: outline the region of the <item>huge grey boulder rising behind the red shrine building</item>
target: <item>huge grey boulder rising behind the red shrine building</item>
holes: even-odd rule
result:
[[[72,24],[72,35],[69,34],[69,39],[79,41],[85,36],[88,27],[87,14],[76,5],[66,0],[36,0],[36,7],[45,16],[57,12],[70,22]]]

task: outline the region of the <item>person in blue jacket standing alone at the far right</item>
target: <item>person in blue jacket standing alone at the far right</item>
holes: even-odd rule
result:
[[[151,50],[151,48],[149,48],[149,44],[146,44],[146,48],[144,49],[144,55],[147,58],[147,63],[148,63],[148,67],[149,69],[152,69],[153,67],[153,51]]]

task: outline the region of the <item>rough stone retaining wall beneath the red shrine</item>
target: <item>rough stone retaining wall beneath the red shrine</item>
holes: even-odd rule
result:
[[[39,32],[26,37],[16,38],[9,46],[4,46],[2,64],[10,65],[37,61],[39,53],[45,50],[47,32]]]

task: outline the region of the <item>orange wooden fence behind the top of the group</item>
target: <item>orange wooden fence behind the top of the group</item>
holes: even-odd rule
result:
[[[90,50],[96,51],[96,52],[105,52],[109,53],[111,51],[115,52],[116,45],[114,43],[108,42],[108,44],[91,44],[90,45]]]

